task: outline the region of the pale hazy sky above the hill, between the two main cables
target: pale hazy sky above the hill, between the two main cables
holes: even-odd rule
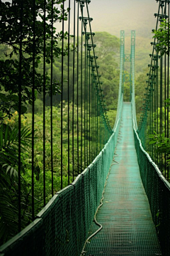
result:
[[[136,30],[137,36],[149,36],[155,28],[154,13],[157,13],[158,5],[155,0],[91,0],[92,29],[118,37],[120,30],[125,30],[127,35]]]

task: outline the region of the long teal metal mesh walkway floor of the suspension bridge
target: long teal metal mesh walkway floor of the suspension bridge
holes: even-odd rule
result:
[[[103,229],[86,245],[86,255],[162,255],[137,164],[130,102],[123,104],[116,154],[119,164],[111,166],[96,215]],[[93,224],[89,235],[97,229]]]

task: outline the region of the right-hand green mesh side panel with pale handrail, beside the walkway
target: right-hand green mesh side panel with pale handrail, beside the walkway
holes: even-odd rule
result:
[[[149,154],[142,148],[142,144],[136,131],[134,132],[134,136],[137,159],[140,166],[140,175],[147,193],[152,218],[162,247],[162,255],[168,256],[170,254],[169,182],[166,181]]]

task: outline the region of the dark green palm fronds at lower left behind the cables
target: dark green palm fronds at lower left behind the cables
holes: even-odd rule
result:
[[[25,174],[27,149],[31,147],[29,128],[21,129],[21,173]],[[7,124],[0,128],[0,244],[18,230],[18,128]],[[35,169],[35,173],[38,169]],[[30,213],[30,185],[21,176],[21,225],[28,224]],[[27,211],[27,213],[26,213]]]

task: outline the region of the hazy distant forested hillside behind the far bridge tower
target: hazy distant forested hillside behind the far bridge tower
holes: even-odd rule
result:
[[[136,104],[137,112],[141,110],[141,95],[145,93],[145,80],[147,73],[147,64],[149,64],[150,45],[148,38],[137,38],[136,53],[135,53],[135,86],[136,86]],[[108,116],[111,113],[115,116],[115,110],[117,108],[118,99],[118,83],[119,83],[119,50],[120,43],[119,38],[113,36],[107,32],[96,32],[94,36],[94,43],[96,44],[96,55],[98,56],[99,73],[101,75],[102,89],[105,95],[106,108]],[[5,58],[4,53],[7,55],[10,53],[8,46],[0,46],[1,59]],[[125,53],[130,53],[130,36],[125,38]],[[15,58],[15,57],[13,57]],[[70,63],[72,63],[73,54],[70,54]],[[77,65],[77,63],[75,63]],[[53,64],[53,79],[56,81],[56,92],[53,96],[53,104],[60,105],[60,82],[61,82],[61,58],[56,58]],[[48,72],[50,65],[46,65]],[[38,65],[38,73],[42,73],[42,63]],[[70,88],[72,89],[72,72],[70,76]],[[67,56],[64,62],[64,79],[67,81]],[[127,89],[128,92],[128,89]],[[140,94],[138,94],[140,92]],[[72,90],[70,90],[70,98],[72,98]],[[64,92],[64,99],[67,102],[67,92]],[[125,96],[126,99],[126,96]],[[46,95],[46,105],[50,105],[50,96]],[[27,105],[27,112],[31,111],[31,105]],[[37,94],[37,100],[35,101],[35,113],[42,112],[42,95]],[[111,124],[113,125],[113,119],[111,117]]]

